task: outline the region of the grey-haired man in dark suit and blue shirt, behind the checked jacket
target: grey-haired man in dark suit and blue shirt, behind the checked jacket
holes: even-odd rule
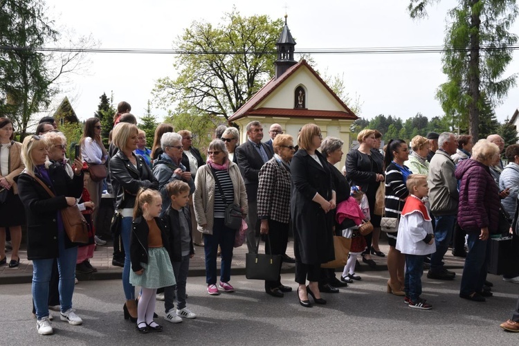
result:
[[[236,148],[239,171],[242,172],[248,199],[247,215],[247,247],[249,253],[256,252],[256,233],[259,234],[257,222],[257,185],[260,169],[274,155],[271,147],[262,143],[263,127],[259,121],[251,121],[246,126],[247,140]]]

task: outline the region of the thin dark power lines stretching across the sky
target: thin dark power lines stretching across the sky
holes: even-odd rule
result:
[[[519,45],[499,47],[481,46],[480,51],[516,51]],[[166,54],[166,55],[242,55],[243,51],[186,51],[183,49],[153,49],[153,48],[28,48],[15,46],[0,46],[0,51],[37,51],[37,52],[69,52],[69,53],[116,53],[116,54]],[[447,52],[470,52],[471,48],[446,48],[444,46],[408,46],[408,47],[357,47],[357,48],[306,48],[298,49],[298,54],[428,54]],[[248,51],[250,55],[277,54],[277,51]]]

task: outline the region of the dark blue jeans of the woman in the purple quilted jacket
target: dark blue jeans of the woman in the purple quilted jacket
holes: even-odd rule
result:
[[[463,267],[462,284],[459,293],[470,295],[481,292],[486,280],[486,253],[489,246],[487,240],[480,240],[479,232],[468,232],[468,253]]]

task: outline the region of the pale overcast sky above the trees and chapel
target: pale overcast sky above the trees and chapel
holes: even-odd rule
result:
[[[224,13],[237,10],[243,16],[268,15],[271,19],[288,15],[289,29],[297,45],[295,52],[316,48],[367,48],[442,46],[446,12],[457,1],[440,1],[428,8],[428,18],[410,19],[405,0],[263,0],[263,1],[171,1],[46,0],[48,15],[57,26],[92,35],[99,48],[176,48],[173,41],[193,21],[221,22]],[[519,34],[519,21],[511,29]],[[66,95],[81,120],[97,110],[100,95],[113,93],[113,102],[125,100],[131,113],[143,116],[147,101],[158,78],[175,78],[174,55],[137,55],[91,53],[91,64],[81,74],[69,76],[62,85],[66,91],[57,95],[53,107]],[[347,93],[360,100],[358,116],[373,118],[379,114],[403,119],[418,112],[428,118],[441,116],[435,100],[439,84],[446,82],[441,72],[441,55],[313,55],[319,71],[343,76]],[[519,71],[519,56],[505,75]],[[152,100],[153,101],[153,100]],[[502,122],[519,107],[519,87],[495,109]],[[52,107],[51,107],[52,108]],[[49,109],[53,111],[53,109]],[[163,117],[167,109],[152,107],[152,113]]]

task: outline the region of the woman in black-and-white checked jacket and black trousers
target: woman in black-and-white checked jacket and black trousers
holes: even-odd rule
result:
[[[268,236],[265,253],[284,255],[290,228],[290,161],[295,153],[292,136],[277,135],[273,148],[273,158],[266,161],[259,174],[257,217],[261,220],[260,233]],[[281,284],[281,275],[265,281],[265,292],[273,297],[282,298],[284,292],[290,291],[291,287]]]

